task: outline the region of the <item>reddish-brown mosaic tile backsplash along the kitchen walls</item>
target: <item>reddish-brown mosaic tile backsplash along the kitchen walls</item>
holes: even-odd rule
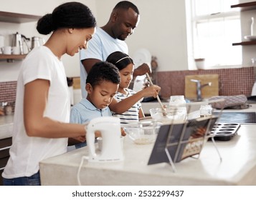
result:
[[[161,86],[161,96],[184,94],[185,76],[196,74],[219,74],[219,95],[232,96],[245,94],[250,96],[255,82],[253,67],[239,69],[211,69],[194,71],[159,71],[157,82]],[[16,81],[0,82],[0,102],[14,102],[16,97]]]

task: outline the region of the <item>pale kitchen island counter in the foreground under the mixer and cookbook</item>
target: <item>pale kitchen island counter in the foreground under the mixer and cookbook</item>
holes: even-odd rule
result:
[[[125,136],[125,160],[89,163],[79,174],[82,185],[256,185],[256,125],[242,124],[230,141],[217,141],[219,159],[212,141],[204,145],[199,159],[148,166],[153,144],[137,145]],[[96,146],[98,144],[95,144]],[[40,163],[42,185],[77,185],[77,171],[87,146]]]

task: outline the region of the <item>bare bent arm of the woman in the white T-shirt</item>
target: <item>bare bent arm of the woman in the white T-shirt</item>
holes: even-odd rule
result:
[[[24,126],[28,136],[63,138],[85,136],[85,125],[68,124],[44,116],[49,81],[37,79],[25,85]]]

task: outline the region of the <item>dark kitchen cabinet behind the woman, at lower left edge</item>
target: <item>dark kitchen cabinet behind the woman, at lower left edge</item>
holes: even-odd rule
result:
[[[0,186],[3,185],[3,179],[1,174],[4,171],[4,167],[9,159],[9,149],[11,147],[11,137],[6,139],[0,139]]]

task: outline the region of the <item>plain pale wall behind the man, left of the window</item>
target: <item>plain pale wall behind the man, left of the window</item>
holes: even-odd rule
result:
[[[98,25],[107,23],[110,11],[119,0],[96,0]],[[141,14],[135,32],[126,41],[129,54],[148,49],[158,58],[158,71],[188,69],[185,0],[131,0]]]

